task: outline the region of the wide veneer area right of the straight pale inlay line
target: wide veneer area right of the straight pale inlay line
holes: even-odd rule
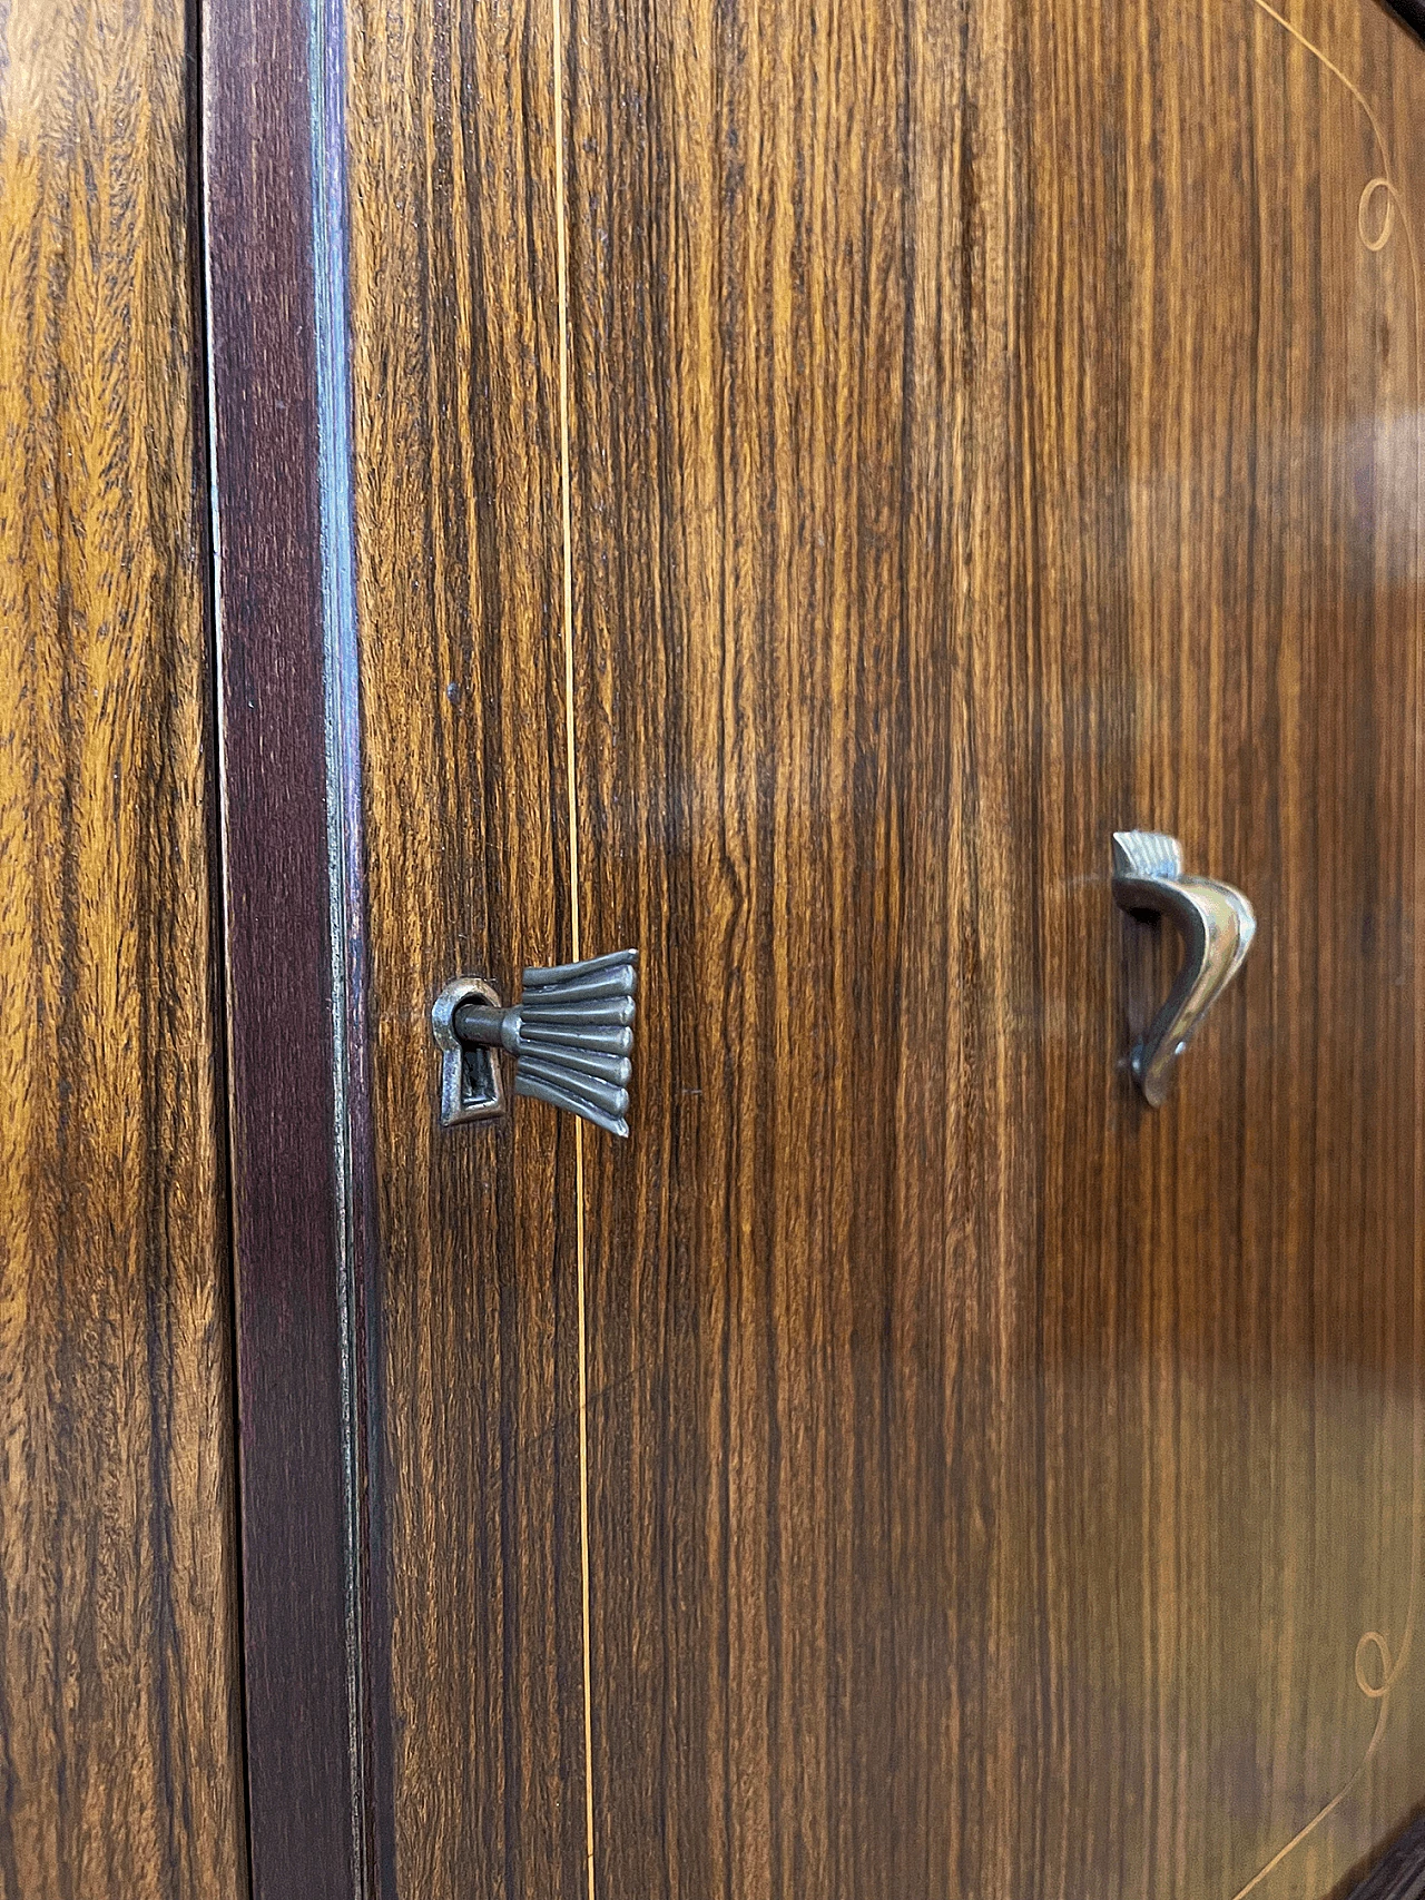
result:
[[[1419,1799],[1425,63],[1300,25],[1379,251],[1250,0],[570,8],[604,1892],[1320,1892]],[[1132,823],[1262,923],[1161,1115]]]

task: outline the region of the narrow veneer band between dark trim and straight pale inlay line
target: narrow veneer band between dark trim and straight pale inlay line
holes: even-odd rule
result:
[[[439,1129],[429,1007],[570,954],[545,6],[350,15],[391,1892],[583,1890],[570,1130]]]

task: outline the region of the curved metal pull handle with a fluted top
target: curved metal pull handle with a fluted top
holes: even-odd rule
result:
[[[1172,918],[1182,935],[1178,980],[1129,1062],[1150,1108],[1161,1108],[1178,1056],[1252,948],[1256,916],[1229,884],[1184,876],[1182,846],[1165,832],[1113,832],[1113,897],[1121,910]]]

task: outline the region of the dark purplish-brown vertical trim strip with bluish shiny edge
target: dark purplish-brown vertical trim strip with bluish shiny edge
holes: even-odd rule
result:
[[[369,1864],[370,1208],[340,34],[340,0],[203,0],[255,1900],[355,1900]]]

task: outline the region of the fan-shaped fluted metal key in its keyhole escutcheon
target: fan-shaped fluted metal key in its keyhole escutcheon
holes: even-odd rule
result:
[[[456,977],[431,1009],[441,1047],[443,1127],[504,1113],[500,1051],[505,1051],[515,1058],[515,1094],[627,1136],[636,988],[636,950],[526,969],[521,999],[511,1007],[500,1003],[484,977]]]

